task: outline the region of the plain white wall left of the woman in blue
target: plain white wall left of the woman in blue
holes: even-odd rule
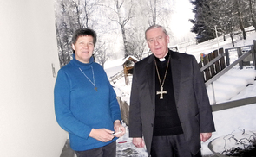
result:
[[[54,0],[0,0],[0,156],[58,157]]]

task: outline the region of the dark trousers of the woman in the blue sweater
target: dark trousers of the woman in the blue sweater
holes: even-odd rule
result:
[[[94,148],[85,151],[75,151],[77,157],[115,157],[116,141],[101,148]]]

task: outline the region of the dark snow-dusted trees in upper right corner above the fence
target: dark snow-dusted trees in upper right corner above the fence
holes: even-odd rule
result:
[[[194,5],[194,26],[197,41],[207,41],[216,37],[214,27],[220,35],[241,32],[246,39],[248,26],[255,24],[255,0],[191,0]],[[225,36],[223,38],[225,40]]]

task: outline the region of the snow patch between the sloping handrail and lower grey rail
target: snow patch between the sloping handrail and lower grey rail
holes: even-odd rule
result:
[[[240,98],[256,96],[256,91],[252,91],[251,93],[246,92],[249,88],[256,88],[256,85],[254,84],[255,77],[256,71],[253,66],[245,67],[243,70],[240,70],[239,66],[235,66],[233,69],[214,81],[213,86],[207,86],[210,103],[213,104],[214,102],[213,89],[217,104],[239,99],[236,98],[238,94],[240,94]],[[241,91],[243,92],[240,93]]]

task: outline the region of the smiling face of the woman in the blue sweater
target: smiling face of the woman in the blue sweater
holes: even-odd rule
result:
[[[89,59],[93,54],[95,45],[94,38],[90,35],[80,36],[77,38],[72,48],[75,51],[75,59],[82,63],[89,63]]]

